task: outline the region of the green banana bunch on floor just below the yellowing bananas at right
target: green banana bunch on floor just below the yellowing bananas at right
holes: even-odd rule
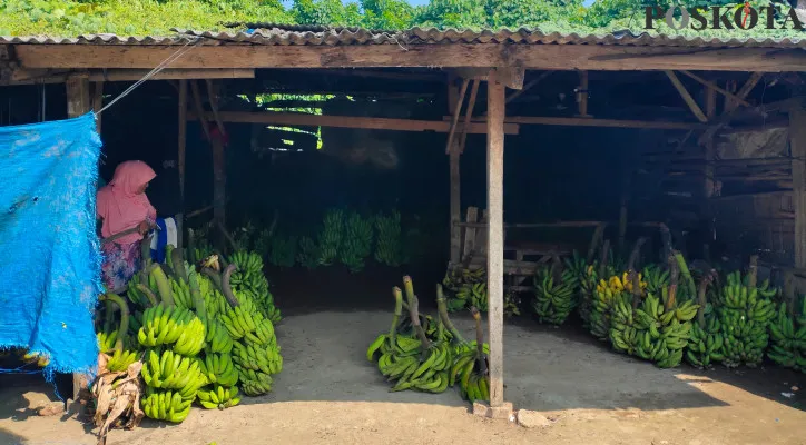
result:
[[[626,343],[630,342],[635,355],[655,362],[660,368],[680,364],[691,335],[691,319],[699,308],[691,300],[678,306],[674,293],[666,289],[661,290],[662,301],[653,295],[643,299],[635,312],[635,336],[625,338]]]

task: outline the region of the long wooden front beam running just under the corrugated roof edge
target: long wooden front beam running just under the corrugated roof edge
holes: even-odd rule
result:
[[[157,67],[176,46],[13,44],[23,68]],[[806,52],[780,48],[604,44],[200,46],[170,68],[505,67],[543,70],[806,71]]]

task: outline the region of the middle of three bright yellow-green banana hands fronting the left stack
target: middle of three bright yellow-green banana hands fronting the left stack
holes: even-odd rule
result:
[[[177,389],[183,397],[190,397],[207,384],[197,358],[183,357],[170,350],[161,355],[150,349],[142,365],[142,380],[151,388]]]

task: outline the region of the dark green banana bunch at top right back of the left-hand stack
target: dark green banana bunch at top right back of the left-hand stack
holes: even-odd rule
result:
[[[237,266],[229,278],[229,284],[238,301],[244,304],[246,299],[253,300],[264,317],[272,323],[279,323],[283,317],[268,289],[268,279],[263,274],[261,255],[254,251],[236,251],[229,259]]]

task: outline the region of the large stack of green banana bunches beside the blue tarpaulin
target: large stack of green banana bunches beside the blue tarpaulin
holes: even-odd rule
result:
[[[224,409],[242,393],[268,393],[283,357],[274,333],[279,312],[259,255],[237,251],[229,264],[214,255],[190,265],[169,248],[166,257],[167,264],[147,265],[129,283],[128,303],[112,294],[100,298],[106,370],[141,362],[140,405],[158,421],[183,422],[194,402]],[[118,326],[110,322],[115,306]]]

